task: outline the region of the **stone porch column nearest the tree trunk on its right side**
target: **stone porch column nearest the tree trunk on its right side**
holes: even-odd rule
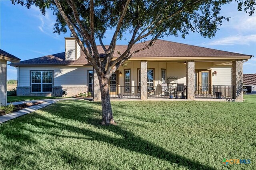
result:
[[[148,62],[140,61],[140,99],[148,99]]]

